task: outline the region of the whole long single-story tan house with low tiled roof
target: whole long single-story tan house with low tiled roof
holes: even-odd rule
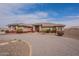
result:
[[[35,24],[23,24],[23,23],[15,23],[9,24],[9,31],[16,32],[17,29],[21,29],[23,32],[42,32],[46,30],[50,30],[51,32],[63,31],[65,25],[62,24],[54,24],[54,23],[35,23]]]

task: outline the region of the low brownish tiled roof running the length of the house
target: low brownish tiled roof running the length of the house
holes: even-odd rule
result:
[[[54,23],[35,23],[35,24],[24,24],[24,23],[14,23],[14,24],[9,24],[8,26],[27,26],[27,27],[32,27],[33,25],[42,25],[42,26],[65,26],[63,24],[54,24]]]

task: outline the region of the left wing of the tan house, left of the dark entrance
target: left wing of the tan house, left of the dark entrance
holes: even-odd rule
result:
[[[13,23],[8,24],[9,32],[16,33],[18,30],[22,30],[22,32],[31,32],[32,25],[31,24],[24,24],[24,23]]]

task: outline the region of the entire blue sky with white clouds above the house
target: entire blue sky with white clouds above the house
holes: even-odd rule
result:
[[[11,23],[51,22],[79,26],[79,4],[18,3],[0,4],[0,26]]]

